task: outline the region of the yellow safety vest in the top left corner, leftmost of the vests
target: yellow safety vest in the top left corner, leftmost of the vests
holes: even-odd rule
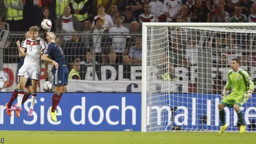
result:
[[[9,4],[13,4],[14,6],[18,6],[19,1],[18,0],[5,0],[4,4],[7,8],[7,20],[22,20],[23,19],[23,12],[22,10],[15,10],[13,8],[10,8],[8,6]]]

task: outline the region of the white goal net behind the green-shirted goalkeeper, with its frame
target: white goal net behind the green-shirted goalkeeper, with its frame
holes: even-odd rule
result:
[[[245,23],[142,24],[142,131],[216,131],[232,58],[256,80],[256,28]],[[229,91],[231,92],[231,90]],[[240,108],[256,130],[256,96]],[[240,122],[225,108],[228,131]]]

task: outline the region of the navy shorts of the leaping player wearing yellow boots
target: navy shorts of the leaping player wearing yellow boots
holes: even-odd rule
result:
[[[54,86],[66,86],[68,85],[68,68],[67,66],[59,66],[58,70],[55,67],[52,68],[52,74],[54,75]]]

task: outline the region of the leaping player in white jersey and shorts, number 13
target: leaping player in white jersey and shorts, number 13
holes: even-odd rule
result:
[[[37,26],[32,26],[29,29],[31,38],[24,41],[22,46],[23,52],[26,53],[24,59],[24,64],[18,72],[19,86],[18,86],[18,103],[13,108],[9,110],[22,110],[21,103],[24,96],[24,87],[27,79],[32,78],[32,102],[28,112],[28,116],[32,116],[34,104],[37,95],[37,86],[41,73],[41,52],[46,47],[46,43],[42,38],[38,38],[39,28]]]

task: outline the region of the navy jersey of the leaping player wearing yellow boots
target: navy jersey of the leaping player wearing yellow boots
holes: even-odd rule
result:
[[[55,42],[50,42],[44,49],[44,54],[49,55],[59,66],[68,64],[62,49]]]

